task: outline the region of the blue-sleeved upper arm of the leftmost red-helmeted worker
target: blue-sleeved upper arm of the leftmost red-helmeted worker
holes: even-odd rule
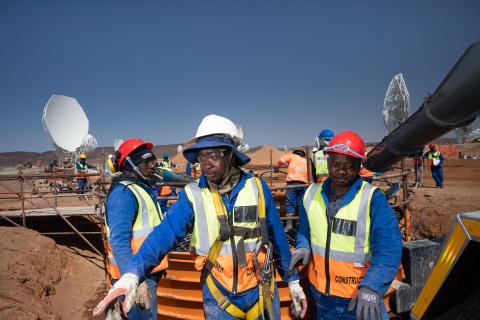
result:
[[[110,245],[121,274],[127,272],[133,256],[132,226],[137,210],[135,196],[124,185],[117,185],[108,195],[106,219],[110,229]]]

